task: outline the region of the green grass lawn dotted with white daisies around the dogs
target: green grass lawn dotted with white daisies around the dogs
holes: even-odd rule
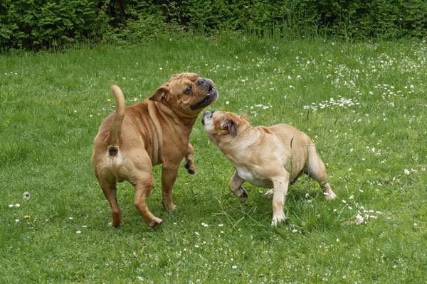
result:
[[[256,38],[0,55],[0,283],[424,283],[426,60],[425,42]],[[142,222],[123,182],[125,225],[107,226],[90,157],[114,111],[110,86],[129,106],[177,72],[214,80],[220,97],[209,109],[308,133],[337,200],[300,178],[288,219],[270,227],[271,199],[245,184],[248,200],[238,202],[228,190],[233,168],[199,119],[196,175],[181,166],[177,211],[162,209],[155,167],[148,206],[164,224]]]

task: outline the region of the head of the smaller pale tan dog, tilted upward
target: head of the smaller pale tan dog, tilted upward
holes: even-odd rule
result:
[[[226,111],[205,111],[201,120],[209,139],[218,146],[223,137],[232,139],[242,126],[249,124],[247,115],[238,116]]]

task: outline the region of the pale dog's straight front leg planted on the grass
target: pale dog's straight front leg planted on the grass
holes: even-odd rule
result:
[[[288,193],[289,173],[283,173],[283,176],[273,179],[273,219],[271,226],[277,226],[279,222],[285,220],[283,205],[285,204],[286,194]]]

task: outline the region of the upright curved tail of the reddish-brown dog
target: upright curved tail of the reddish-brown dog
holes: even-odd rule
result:
[[[110,127],[110,135],[108,136],[108,153],[114,157],[119,151],[120,132],[122,131],[122,122],[125,118],[125,96],[123,96],[122,90],[116,85],[112,85],[111,90],[115,95],[117,105]]]

